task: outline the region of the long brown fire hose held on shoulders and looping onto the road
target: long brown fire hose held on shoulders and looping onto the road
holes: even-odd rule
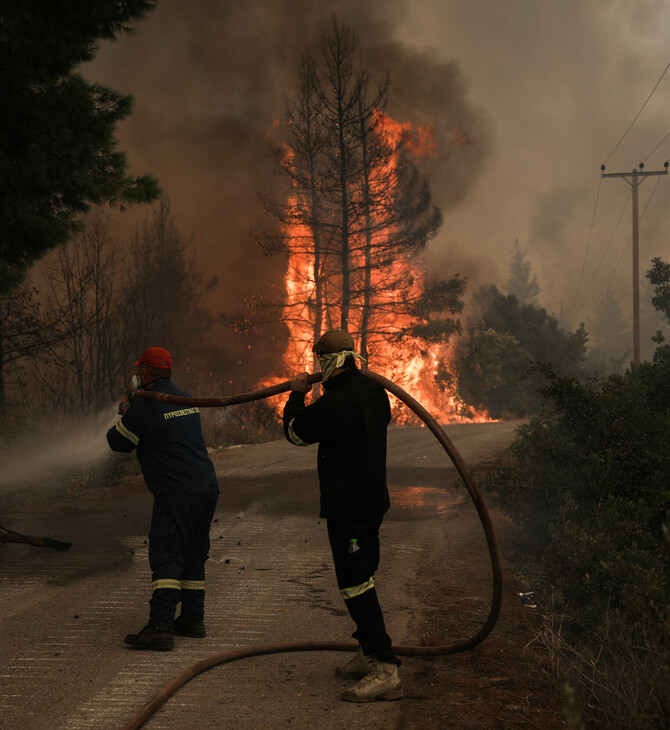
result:
[[[479,631],[471,636],[469,639],[459,641],[454,644],[446,644],[443,646],[396,646],[392,647],[392,650],[399,656],[413,656],[413,657],[432,657],[432,656],[444,656],[447,654],[456,654],[458,652],[472,649],[473,647],[480,644],[484,639],[491,633],[493,627],[498,620],[500,614],[500,607],[502,604],[502,564],[500,560],[500,551],[498,550],[498,544],[493,530],[493,524],[489,516],[488,510],[484,503],[484,500],[474,482],[472,475],[463,461],[463,458],[456,450],[449,437],[446,435],[442,427],[433,418],[433,416],[426,411],[426,409],[411,395],[405,392],[398,385],[388,380],[387,378],[378,375],[377,373],[365,370],[365,374],[376,383],[386,388],[396,398],[401,400],[407,405],[430,429],[435,438],[440,442],[442,448],[447,452],[453,465],[456,467],[458,474],[460,475],[463,483],[465,484],[472,501],[474,502],[475,508],[477,509],[477,515],[484,529],[484,535],[486,536],[486,542],[488,546],[489,557],[491,559],[491,569],[493,573],[493,593],[491,597],[491,605],[489,613],[484,622],[484,625]],[[310,383],[318,383],[321,380],[321,373],[314,373],[309,376]],[[280,393],[285,393],[290,390],[291,383],[286,381],[273,385],[267,388],[259,388],[258,390],[251,391],[249,393],[241,393],[232,396],[223,396],[220,398],[190,398],[186,396],[175,396],[168,395],[166,393],[156,393],[150,390],[139,390],[133,394],[133,398],[145,398],[149,400],[163,401],[165,403],[171,403],[173,405],[181,405],[187,407],[198,407],[198,408],[216,408],[225,407],[231,405],[237,405],[240,403],[248,403],[255,400],[261,400],[263,398],[270,398]],[[353,642],[340,642],[340,641],[288,641],[275,644],[256,644],[253,646],[246,646],[240,649],[233,649],[231,651],[223,652],[222,654],[214,654],[210,657],[202,659],[201,661],[193,664],[191,667],[186,669],[180,675],[175,677],[169,684],[165,685],[158,693],[156,693],[149,702],[126,723],[122,730],[136,730],[142,727],[144,723],[156,712],[156,710],[166,702],[180,687],[186,684],[193,677],[201,674],[202,672],[211,669],[212,667],[219,666],[220,664],[226,664],[228,662],[235,661],[236,659],[243,659],[251,656],[259,656],[262,654],[279,654],[283,652],[292,651],[356,651],[358,644]]]

